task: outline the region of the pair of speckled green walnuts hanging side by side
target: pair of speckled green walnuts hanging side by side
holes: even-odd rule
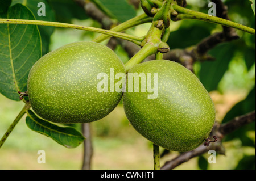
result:
[[[131,125],[156,145],[184,152],[209,136],[215,121],[214,105],[191,71],[167,60],[133,66],[129,73],[158,73],[158,95],[148,99],[147,91],[98,91],[98,74],[110,77],[110,69],[115,75],[126,75],[122,61],[105,45],[79,41],[53,50],[40,58],[28,75],[31,107],[48,121],[86,123],[108,115],[123,97]],[[131,80],[129,73],[126,85]],[[108,88],[110,84],[106,82]]]

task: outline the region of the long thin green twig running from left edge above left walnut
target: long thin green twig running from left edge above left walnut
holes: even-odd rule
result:
[[[101,28],[94,28],[94,27],[87,27],[81,26],[76,24],[69,24],[69,23],[59,23],[59,22],[47,22],[47,21],[40,21],[40,20],[27,20],[27,19],[3,19],[0,18],[0,24],[9,23],[9,24],[34,24],[34,25],[42,25],[42,26],[53,26],[53,27],[61,27],[61,28],[73,28],[77,30],[86,30],[86,31],[93,31],[102,33],[105,35],[115,36],[127,41],[131,41],[137,45],[141,44],[141,41],[144,37],[137,37],[133,35],[128,35],[126,33],[120,33],[110,30],[104,30]]]

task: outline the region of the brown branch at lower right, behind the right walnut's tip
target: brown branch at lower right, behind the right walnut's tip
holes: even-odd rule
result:
[[[166,163],[164,163],[161,169],[174,169],[175,167],[181,165],[182,163],[189,161],[189,159],[204,154],[209,150],[215,150],[219,154],[225,154],[225,148],[221,144],[221,141],[224,138],[224,136],[230,132],[235,131],[238,128],[241,128],[243,125],[252,123],[253,121],[255,121],[255,111],[247,113],[246,115],[235,117],[233,120],[230,120],[228,123],[225,124],[220,125],[216,122],[212,129],[212,132],[210,133],[210,136],[214,135],[218,138],[216,142],[212,142],[209,146],[204,146],[204,144],[202,144],[192,151],[181,153],[171,161],[167,161]]]

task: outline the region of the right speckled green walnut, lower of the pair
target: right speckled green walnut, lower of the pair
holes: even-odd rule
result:
[[[176,62],[153,60],[135,65],[127,77],[123,106],[131,125],[142,136],[181,152],[197,148],[209,136],[215,121],[214,104],[191,71]],[[136,87],[129,87],[136,77],[138,92]]]

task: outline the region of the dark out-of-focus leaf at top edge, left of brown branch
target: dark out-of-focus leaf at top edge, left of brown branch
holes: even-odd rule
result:
[[[71,23],[73,18],[80,20],[88,18],[84,9],[73,0],[48,0],[48,2],[55,11],[57,22]]]

